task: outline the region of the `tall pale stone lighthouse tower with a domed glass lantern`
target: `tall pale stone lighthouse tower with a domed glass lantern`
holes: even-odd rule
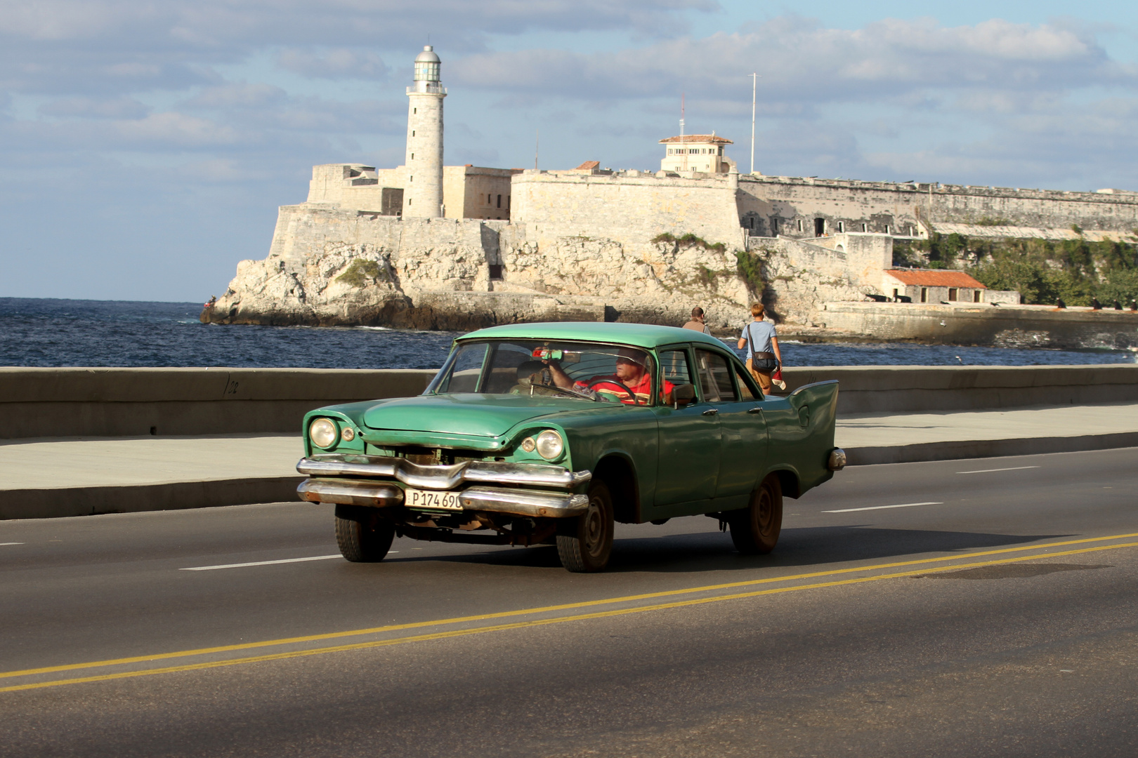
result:
[[[415,83],[407,88],[407,181],[403,217],[443,215],[443,98],[440,63],[431,45],[415,56]]]

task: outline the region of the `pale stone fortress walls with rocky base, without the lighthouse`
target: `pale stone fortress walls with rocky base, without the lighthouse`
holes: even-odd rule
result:
[[[424,328],[538,318],[678,324],[701,305],[712,328],[729,330],[761,297],[784,323],[869,325],[892,338],[904,325],[839,318],[826,303],[884,293],[896,238],[927,235],[943,218],[954,219],[943,222],[953,230],[998,228],[974,225],[998,217],[1057,236],[1074,235],[1070,226],[1079,224],[1088,236],[1132,239],[1129,230],[1138,226],[1132,193],[943,185],[930,192],[929,185],[595,169],[489,169],[483,182],[477,172],[487,169],[472,168],[447,167],[455,169],[447,207],[462,207],[465,218],[414,219],[390,213],[398,199],[384,183],[399,169],[314,167],[307,201],[280,209],[270,257],[242,261],[204,318]],[[495,192],[505,181],[509,189]],[[459,191],[461,202],[450,200]],[[479,217],[498,210],[498,194],[508,219]],[[692,234],[704,244],[658,241],[665,234]],[[764,292],[735,275],[740,251],[762,259]],[[379,273],[338,278],[356,259]],[[898,318],[908,324],[910,316]]]

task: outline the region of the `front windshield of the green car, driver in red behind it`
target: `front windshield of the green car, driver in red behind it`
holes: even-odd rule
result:
[[[655,365],[638,348],[553,340],[461,344],[428,392],[476,392],[651,405]]]

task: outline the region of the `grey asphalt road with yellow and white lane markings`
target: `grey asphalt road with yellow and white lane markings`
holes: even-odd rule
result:
[[[1136,472],[851,468],[773,556],[676,519],[602,575],[352,565],[306,505],[0,523],[0,753],[1129,757]]]

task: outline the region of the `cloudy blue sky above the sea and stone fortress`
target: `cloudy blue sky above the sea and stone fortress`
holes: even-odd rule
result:
[[[764,174],[1138,190],[1133,2],[0,0],[0,297],[221,294],[428,42],[447,165],[654,170],[683,99],[747,172],[757,73]]]

